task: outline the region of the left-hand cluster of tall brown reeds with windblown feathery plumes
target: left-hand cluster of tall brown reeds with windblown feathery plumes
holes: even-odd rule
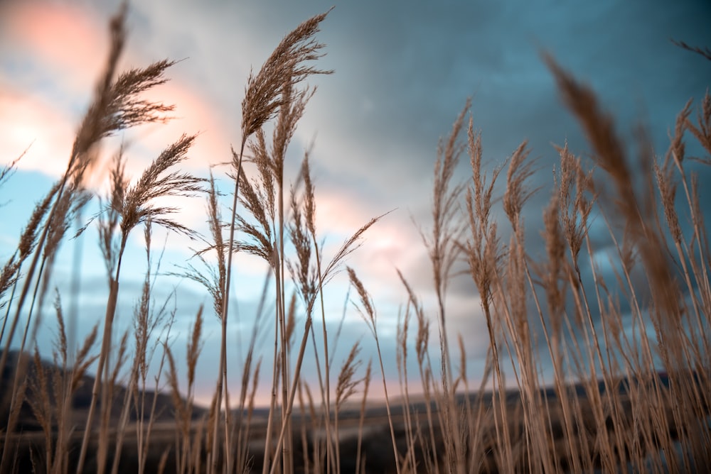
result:
[[[16,343],[16,331],[24,322],[20,353],[31,350],[35,334],[40,325],[43,299],[48,294],[53,258],[65,233],[73,224],[75,216],[82,216],[82,209],[92,198],[92,192],[85,187],[85,176],[92,172],[100,160],[99,147],[103,138],[117,131],[141,123],[166,121],[166,113],[172,106],[146,101],[144,92],[165,82],[164,72],[173,65],[170,61],[156,62],[144,69],[117,73],[117,62],[124,47],[124,22],[126,7],[112,19],[110,24],[111,48],[105,72],[97,85],[97,91],[87,114],[77,132],[75,144],[65,175],[56,184],[46,199],[36,207],[26,230],[21,237],[16,255],[6,263],[2,273],[2,292],[10,292],[4,299],[6,315],[3,319],[3,368],[14,361],[11,373],[14,382],[11,389],[3,390],[4,414],[7,416],[2,431],[2,460],[0,471],[15,470],[12,447],[26,446],[21,443],[22,435],[16,430],[21,409],[25,402],[46,435],[44,456],[33,453],[36,470],[46,468],[48,472],[67,470],[119,471],[122,449],[127,439],[135,441],[137,468],[145,472],[150,452],[156,443],[151,443],[154,434],[156,396],[146,398],[149,390],[149,365],[156,364],[154,352],[159,350],[154,393],[166,379],[176,414],[176,443],[171,448],[175,456],[173,465],[179,472],[194,470],[245,470],[255,461],[249,451],[250,419],[254,407],[257,380],[261,360],[255,360],[255,345],[259,326],[267,324],[263,318],[255,321],[247,348],[247,358],[242,366],[238,409],[230,402],[228,390],[228,358],[226,355],[227,327],[229,317],[232,256],[236,252],[250,253],[262,258],[269,267],[262,300],[269,299],[267,291],[274,291],[274,363],[272,364],[272,400],[269,409],[267,431],[262,434],[264,446],[264,471],[289,470],[292,466],[292,410],[299,388],[303,395],[303,385],[299,374],[304,360],[309,338],[314,341],[316,332],[313,315],[320,309],[322,337],[325,353],[315,353],[316,364],[324,366],[324,375],[319,387],[322,402],[318,408],[319,417],[326,426],[324,451],[321,458],[314,458],[315,465],[326,464],[331,469],[337,463],[338,448],[334,448],[331,426],[329,367],[333,358],[328,358],[328,334],[326,333],[326,313],[323,291],[326,283],[338,271],[342,261],[360,245],[363,233],[379,218],[372,219],[356,230],[330,259],[324,260],[322,243],[316,233],[316,204],[314,186],[311,181],[308,155],[304,156],[299,175],[289,187],[284,176],[284,160],[296,125],[304,112],[306,103],[314,89],[301,87],[304,79],[314,74],[328,74],[329,71],[312,67],[323,53],[323,45],[314,40],[319,23],[327,13],[315,16],[289,33],[274,50],[272,55],[255,75],[247,79],[245,99],[242,102],[242,140],[239,152],[232,151],[231,170],[234,181],[232,207],[225,222],[221,216],[220,200],[215,180],[204,180],[176,171],[184,160],[196,136],[183,135],[176,143],[169,145],[143,175],[129,185],[130,178],[124,173],[124,150],[119,150],[114,158],[109,175],[110,190],[107,197],[99,197],[101,210],[92,219],[83,223],[79,232],[89,226],[96,226],[100,250],[105,260],[109,297],[104,324],[96,326],[90,337],[76,353],[68,343],[65,332],[65,317],[59,296],[55,301],[58,326],[58,351],[55,355],[57,370],[48,369],[41,362],[38,351],[34,367],[29,367],[28,358],[10,357],[11,344]],[[301,88],[300,88],[301,87]],[[268,131],[272,136],[269,142]],[[268,143],[269,142],[269,143]],[[243,166],[245,151],[250,152],[249,161],[257,171],[255,178],[247,176]],[[4,170],[2,179],[11,174],[12,163]],[[208,189],[204,189],[208,182]],[[198,312],[193,326],[193,335],[187,348],[187,387],[181,388],[178,365],[168,344],[168,336],[175,310],[169,312],[167,305],[156,305],[152,295],[155,276],[160,264],[154,262],[151,253],[151,228],[163,226],[170,231],[196,237],[196,233],[172,219],[177,209],[164,204],[166,197],[193,196],[205,192],[208,197],[208,226],[212,242],[199,251],[196,258],[199,265],[183,267],[184,277],[205,286],[213,297],[215,315],[222,321],[220,348],[220,370],[216,373],[217,385],[210,413],[196,426],[193,423],[193,399],[195,370],[201,352],[201,331],[203,315]],[[144,226],[146,240],[147,272],[139,304],[135,309],[132,331],[122,334],[117,343],[114,335],[114,318],[119,298],[119,280],[122,259],[129,234],[139,226]],[[226,230],[228,229],[228,230]],[[225,235],[225,233],[227,235]],[[216,258],[206,258],[213,252]],[[26,260],[30,260],[28,268]],[[208,263],[210,262],[210,263]],[[211,262],[215,262],[214,264]],[[269,282],[271,284],[269,285]],[[294,289],[289,304],[287,292]],[[19,296],[16,296],[16,290]],[[306,316],[304,326],[296,328],[295,313],[297,299],[301,300]],[[30,305],[28,311],[26,305]],[[318,313],[316,313],[318,316]],[[6,331],[7,329],[7,331]],[[161,334],[156,336],[156,332]],[[298,345],[294,337],[299,335]],[[95,348],[97,338],[100,347]],[[129,347],[131,339],[134,347]],[[296,353],[292,353],[296,350]],[[95,353],[96,352],[96,353]],[[358,346],[353,346],[351,357],[343,366],[336,385],[336,407],[353,395],[358,381],[355,368]],[[79,430],[80,443],[70,446],[77,422],[72,419],[73,397],[87,368],[95,364],[95,381],[90,396],[88,412],[82,416]],[[30,370],[32,369],[32,370]],[[33,377],[24,377],[32,372]],[[34,375],[36,374],[36,375]],[[319,369],[319,375],[321,370]],[[122,408],[113,413],[114,401],[119,396],[119,380],[127,385],[121,390]],[[29,390],[28,390],[29,389]],[[186,397],[181,394],[186,393]],[[304,408],[304,404],[301,404]],[[312,407],[313,409],[313,407]],[[235,419],[236,417],[236,419]],[[129,422],[133,419],[135,422]],[[55,431],[58,437],[55,438]],[[128,436],[135,431],[135,435]],[[53,449],[56,447],[56,449]],[[78,457],[70,452],[78,448]],[[159,467],[164,468],[169,461],[165,451]],[[90,456],[90,453],[93,453]],[[325,460],[323,459],[325,456]],[[14,466],[14,467],[13,467]],[[156,466],[154,466],[155,468]]]

